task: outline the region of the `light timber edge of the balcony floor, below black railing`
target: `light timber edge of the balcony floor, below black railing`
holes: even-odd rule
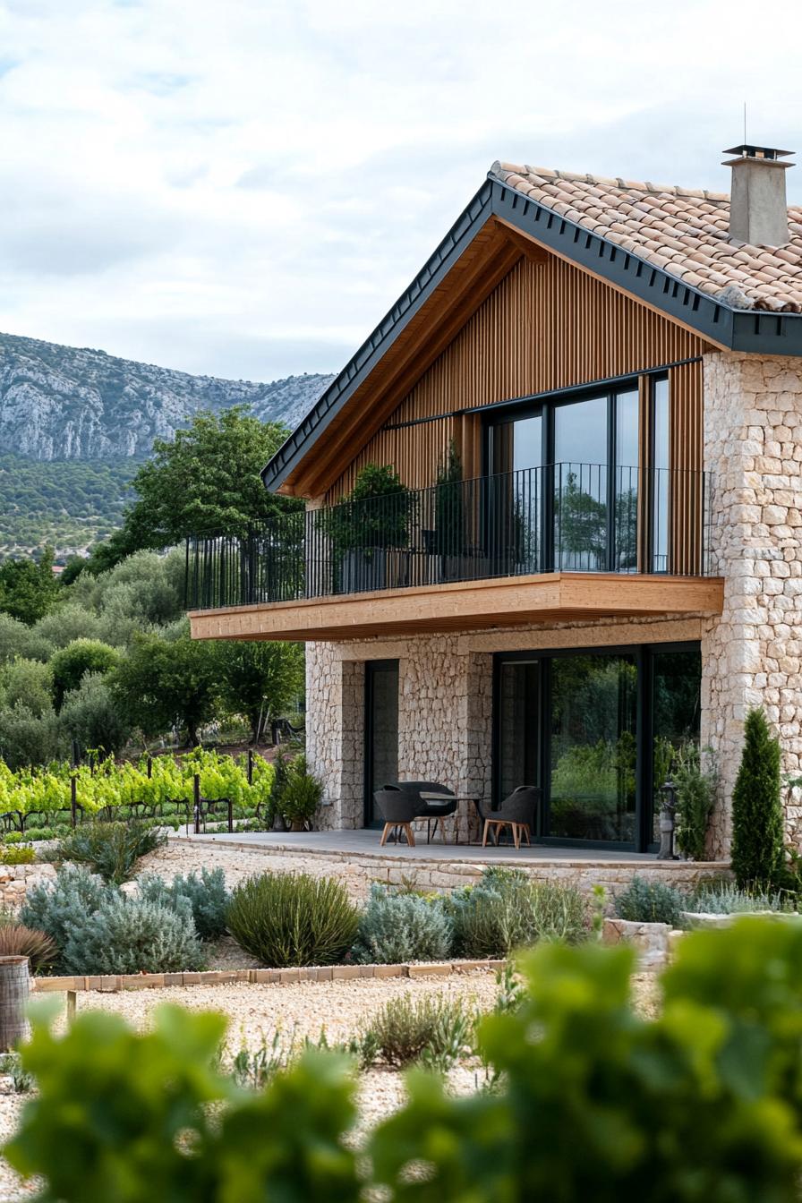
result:
[[[543,573],[190,611],[194,639],[363,639],[595,618],[719,615],[721,577]]]

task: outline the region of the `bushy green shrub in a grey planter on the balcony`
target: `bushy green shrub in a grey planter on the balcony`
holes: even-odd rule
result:
[[[404,564],[388,571],[388,552],[408,549],[416,498],[391,464],[368,463],[351,492],[317,520],[329,540],[339,591],[358,593],[405,583]]]

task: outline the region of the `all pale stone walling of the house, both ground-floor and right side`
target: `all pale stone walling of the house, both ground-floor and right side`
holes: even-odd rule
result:
[[[707,571],[725,580],[720,618],[612,620],[403,640],[309,645],[309,755],[326,783],[326,826],[361,826],[364,660],[399,660],[399,776],[491,796],[493,652],[701,640],[701,741],[720,769],[712,855],[726,854],[750,706],[777,729],[783,770],[802,772],[802,366],[705,356]],[[788,799],[789,828],[802,800]],[[468,816],[462,816],[467,834]]]

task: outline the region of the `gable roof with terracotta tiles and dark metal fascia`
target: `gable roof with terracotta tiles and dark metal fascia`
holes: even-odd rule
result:
[[[427,302],[470,261],[494,221],[718,346],[802,356],[802,209],[789,209],[789,245],[766,248],[729,241],[729,205],[719,192],[494,162],[411,284],[263,469],[266,487],[292,491],[289,478],[385,356],[409,339],[416,319],[420,327]]]

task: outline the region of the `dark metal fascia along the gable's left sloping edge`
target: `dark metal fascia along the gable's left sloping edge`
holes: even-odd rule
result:
[[[459,256],[492,215],[492,188],[486,180],[461,213],[436,250],[426,261],[409,288],[385,314],[356,355],[346,363],[322,397],[262,469],[262,484],[275,490],[305,455],[309,440],[319,439],[346,404],[364,378],[418,312],[433,289],[448,274]]]

